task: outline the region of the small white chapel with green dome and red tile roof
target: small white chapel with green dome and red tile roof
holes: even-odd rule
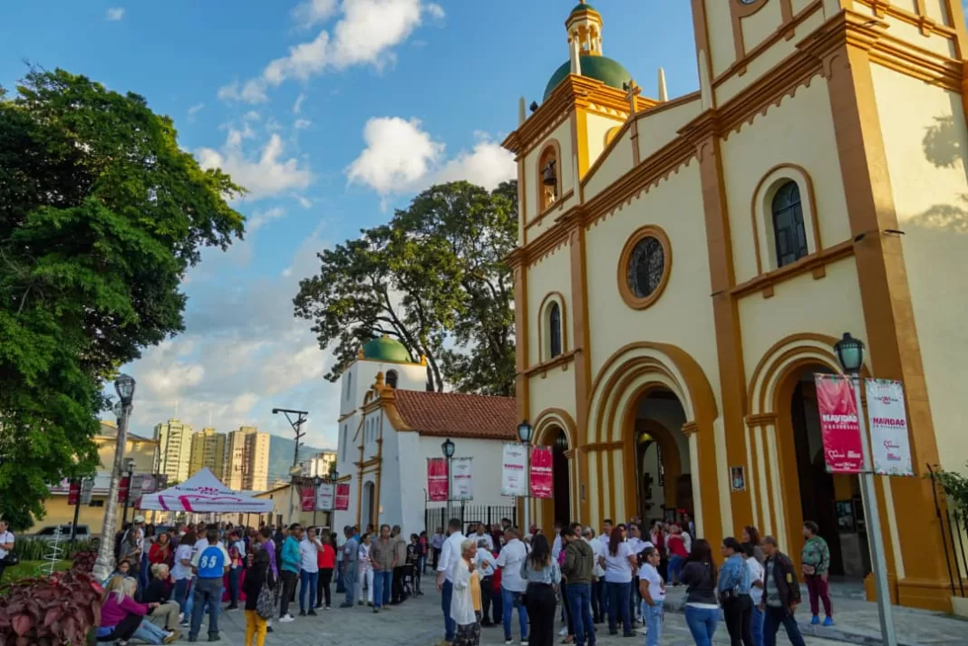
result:
[[[455,444],[454,457],[473,457],[474,507],[512,507],[500,495],[504,442],[517,440],[514,397],[427,392],[425,360],[412,361],[398,340],[365,343],[340,381],[337,470],[349,483],[349,509],[336,512],[339,531],[356,525],[400,525],[419,534],[425,511],[446,503],[428,501],[427,459],[443,457],[441,444]],[[455,514],[461,503],[453,503]],[[466,516],[467,518],[467,516]]]

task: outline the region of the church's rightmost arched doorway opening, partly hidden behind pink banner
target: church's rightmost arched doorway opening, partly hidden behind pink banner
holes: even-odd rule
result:
[[[779,392],[777,424],[785,433],[781,460],[788,488],[795,480],[799,508],[789,511],[791,552],[797,556],[803,545],[802,524],[812,520],[831,549],[831,574],[862,578],[870,572],[870,555],[864,530],[860,481],[855,475],[831,474],[824,459],[823,433],[817,407],[814,374],[831,373],[829,367],[813,364],[787,376]],[[786,408],[784,410],[784,407]],[[791,478],[791,476],[793,478]],[[791,501],[793,502],[793,501]]]

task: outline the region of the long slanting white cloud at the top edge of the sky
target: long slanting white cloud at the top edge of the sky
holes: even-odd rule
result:
[[[286,56],[271,61],[261,75],[219,90],[227,101],[263,103],[266,90],[289,79],[307,80],[357,65],[378,69],[394,61],[393,47],[408,39],[423,15],[443,16],[443,9],[422,0],[344,0],[342,16],[331,31],[321,30],[312,41],[289,47]],[[311,0],[297,7],[294,17],[303,26],[317,24],[335,13],[335,4]],[[297,102],[298,103],[298,102]]]

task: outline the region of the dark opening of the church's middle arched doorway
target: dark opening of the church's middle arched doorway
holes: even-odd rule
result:
[[[634,408],[632,446],[626,443],[626,460],[634,460],[635,482],[626,484],[634,491],[635,514],[644,522],[677,519],[682,514],[695,517],[689,441],[681,431],[685,411],[672,391],[656,387],[641,396]]]

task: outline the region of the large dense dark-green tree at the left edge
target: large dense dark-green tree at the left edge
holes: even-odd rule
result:
[[[226,249],[242,191],[182,151],[167,117],[61,70],[0,89],[0,514],[44,513],[91,473],[104,381],[183,330],[179,285]]]

